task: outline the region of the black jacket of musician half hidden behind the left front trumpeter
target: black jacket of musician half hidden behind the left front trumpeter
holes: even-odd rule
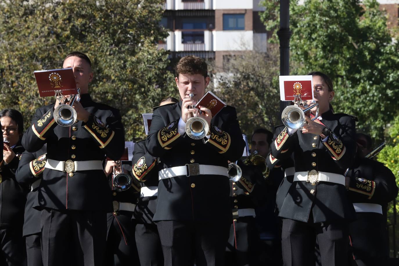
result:
[[[46,145],[37,152],[25,151],[16,172],[16,179],[21,185],[32,185],[43,176],[46,164]],[[40,211],[33,208],[38,197],[38,187],[26,195],[24,214],[24,236],[40,233]]]

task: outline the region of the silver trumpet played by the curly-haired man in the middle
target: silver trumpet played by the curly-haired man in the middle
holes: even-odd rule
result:
[[[190,99],[193,99],[194,94],[190,93],[188,96]],[[195,105],[192,105],[188,106],[188,108],[191,109],[196,107]],[[202,117],[199,117],[199,114],[201,114],[201,110],[198,110],[197,108],[194,112],[191,112],[185,127],[187,136],[194,140],[204,138],[209,132],[208,122],[206,122]]]

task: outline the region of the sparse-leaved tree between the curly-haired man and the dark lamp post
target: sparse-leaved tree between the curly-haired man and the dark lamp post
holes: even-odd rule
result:
[[[278,53],[278,47],[271,45],[268,53],[247,51],[231,56],[223,65],[228,73],[216,75],[216,94],[236,108],[247,136],[256,128],[273,131],[281,124]]]

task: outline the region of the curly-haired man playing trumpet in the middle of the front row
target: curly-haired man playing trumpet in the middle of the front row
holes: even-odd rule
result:
[[[192,139],[185,131],[192,108],[209,84],[205,61],[190,55],[176,66],[179,103],[154,111],[146,147],[160,158],[154,221],[164,265],[223,265],[232,220],[227,161],[241,158],[243,141],[235,108],[212,117],[199,106],[209,131]],[[192,98],[189,97],[193,94]],[[205,128],[205,127],[204,127]]]

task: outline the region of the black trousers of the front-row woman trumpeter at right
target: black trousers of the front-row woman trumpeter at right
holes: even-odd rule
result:
[[[347,223],[304,223],[291,219],[282,222],[284,266],[315,265],[316,239],[323,266],[347,266],[349,233]]]

